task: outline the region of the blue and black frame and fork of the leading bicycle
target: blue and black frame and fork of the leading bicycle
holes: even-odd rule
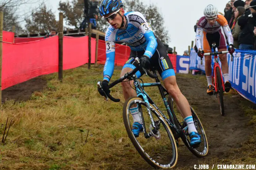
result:
[[[155,74],[155,71],[153,71],[154,74]],[[151,122],[152,122],[152,126],[154,128],[154,130],[156,130],[156,126],[155,126],[155,122],[153,120],[153,116],[152,116],[152,113],[150,111],[150,104],[152,104],[156,109],[157,111],[162,115],[162,117],[165,119],[165,121],[168,123],[168,125],[170,126],[172,132],[176,132],[177,134],[180,134],[180,130],[177,129],[175,123],[174,123],[174,120],[173,120],[173,115],[172,115],[172,112],[170,110],[170,107],[169,107],[169,104],[167,102],[167,99],[165,97],[165,95],[168,94],[167,90],[162,86],[162,84],[160,83],[160,80],[158,78],[156,78],[156,82],[155,83],[140,83],[139,80],[135,77],[133,78],[134,82],[134,87],[136,88],[136,93],[137,93],[137,96],[138,97],[142,97],[143,100],[145,101],[146,103],[146,106],[147,106],[147,111],[148,111],[148,114],[150,116],[150,119],[151,119]],[[165,104],[165,107],[166,107],[166,110],[167,110],[167,113],[170,117],[171,120],[169,120],[165,114],[163,114],[160,109],[156,106],[156,104],[153,102],[153,100],[148,96],[148,94],[145,92],[145,90],[143,89],[143,87],[151,87],[151,86],[157,86],[158,89],[159,89],[159,92],[161,94],[161,97],[163,99],[163,103]],[[166,94],[164,94],[164,92],[166,92]],[[142,113],[142,110],[140,110],[140,113]],[[143,114],[140,115],[141,117],[141,120],[142,120],[142,127],[143,127],[143,132],[144,132],[144,136],[145,138],[149,138],[151,137],[152,135],[151,134],[147,134],[146,132],[146,129],[145,129],[145,123],[144,123],[144,118],[143,118]],[[154,132],[154,131],[153,131]],[[155,131],[157,132],[157,130]]]

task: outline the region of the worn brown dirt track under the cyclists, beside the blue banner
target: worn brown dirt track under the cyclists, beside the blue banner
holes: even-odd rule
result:
[[[180,149],[176,166],[178,169],[184,168],[184,162],[193,168],[200,161],[210,162],[214,157],[222,157],[232,148],[241,147],[241,143],[253,133],[253,127],[248,125],[250,118],[239,107],[240,101],[245,99],[239,95],[224,94],[225,116],[222,116],[216,96],[207,95],[205,82],[199,76],[188,78],[177,75],[177,84],[190,105],[195,108],[209,143],[209,154],[203,159],[191,154],[185,146]]]

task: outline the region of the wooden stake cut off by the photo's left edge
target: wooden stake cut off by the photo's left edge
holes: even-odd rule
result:
[[[3,12],[0,12],[0,106],[2,106]]]

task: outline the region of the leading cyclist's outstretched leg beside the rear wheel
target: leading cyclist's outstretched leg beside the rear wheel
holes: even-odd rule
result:
[[[199,144],[201,142],[200,135],[197,133],[188,101],[186,97],[181,93],[177,85],[175,72],[171,60],[166,52],[166,48],[162,45],[158,38],[157,44],[158,46],[156,52],[152,57],[153,62],[151,63],[156,67],[159,74],[161,75],[166,90],[174,99],[182,117],[188,125],[188,133],[191,137],[190,144]]]

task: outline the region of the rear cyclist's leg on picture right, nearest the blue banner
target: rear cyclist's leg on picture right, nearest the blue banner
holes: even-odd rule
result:
[[[226,44],[225,34],[222,29],[219,31],[219,34],[220,34],[221,38],[219,40],[218,51],[226,51],[227,44]],[[221,64],[222,64],[222,73],[223,73],[223,77],[224,77],[225,91],[229,92],[229,90],[231,89],[231,84],[228,81],[229,74],[228,74],[227,54],[220,54],[219,59],[221,60]]]

